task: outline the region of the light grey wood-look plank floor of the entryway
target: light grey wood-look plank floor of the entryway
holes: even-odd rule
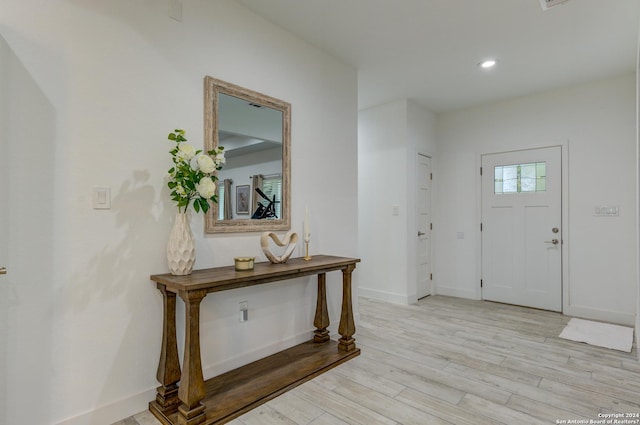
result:
[[[560,339],[567,316],[443,296],[414,306],[360,298],[359,309],[361,356],[230,423],[513,425],[640,414],[635,346]],[[158,423],[142,412],[114,425]]]

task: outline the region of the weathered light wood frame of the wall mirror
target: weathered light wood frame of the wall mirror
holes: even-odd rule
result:
[[[204,144],[205,150],[218,147],[219,95],[244,99],[282,112],[282,198],[278,220],[218,220],[218,204],[205,215],[205,233],[261,232],[291,228],[291,104],[226,81],[206,76],[204,79]],[[223,167],[224,170],[224,167]],[[218,172],[216,172],[217,175]]]

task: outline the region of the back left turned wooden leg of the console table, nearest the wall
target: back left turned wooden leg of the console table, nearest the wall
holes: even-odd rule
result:
[[[158,408],[168,415],[176,411],[180,405],[178,399],[178,381],[180,380],[180,360],[178,359],[178,343],[176,340],[176,294],[168,292],[167,287],[158,284],[162,293],[162,347],[156,378],[160,382],[157,389],[156,403]]]

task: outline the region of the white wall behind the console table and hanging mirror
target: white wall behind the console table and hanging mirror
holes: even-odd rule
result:
[[[29,246],[24,272],[35,278],[16,283],[30,289],[18,289],[10,319],[35,315],[15,336],[27,351],[8,347],[19,373],[7,384],[6,424],[102,425],[154,397],[161,299],[149,275],[167,271],[175,213],[164,180],[166,136],[184,128],[202,146],[205,75],[292,104],[293,229],[301,230],[308,205],[311,253],[357,256],[355,70],[234,1],[182,4],[180,23],[164,1],[0,0],[0,34],[37,89],[10,99],[35,103],[20,121],[33,131],[19,142],[45,155],[23,171],[40,185],[23,185],[23,202],[10,205],[12,217],[24,215],[12,222],[20,230],[13,239]],[[25,165],[24,153],[14,159]],[[111,187],[110,210],[91,208],[93,185]],[[197,268],[261,257],[259,234],[205,236],[201,216],[192,229]],[[335,331],[341,277],[333,275]],[[358,279],[356,270],[355,286]],[[308,338],[315,290],[306,278],[207,297],[205,375]],[[249,302],[243,324],[240,301]],[[181,319],[178,326],[181,339]]]

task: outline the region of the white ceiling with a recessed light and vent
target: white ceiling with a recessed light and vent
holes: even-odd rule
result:
[[[355,67],[359,109],[443,112],[636,68],[640,0],[237,1]]]

